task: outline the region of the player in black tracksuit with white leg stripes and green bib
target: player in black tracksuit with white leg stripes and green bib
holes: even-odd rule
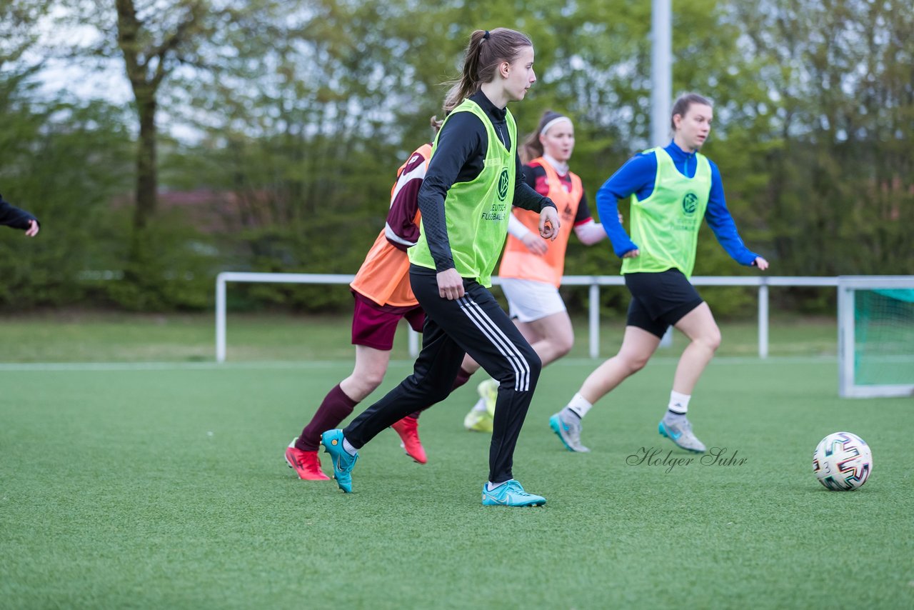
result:
[[[515,30],[476,30],[459,82],[462,99],[441,125],[419,191],[420,239],[409,248],[409,282],[425,310],[413,373],[322,444],[337,485],[352,490],[357,450],[390,424],[444,400],[469,354],[499,382],[484,505],[542,506],[512,473],[517,436],[542,363],[488,287],[505,245],[511,206],[539,212],[539,232],[554,240],[555,204],[517,179],[517,129],[508,102],[537,80],[533,44]]]

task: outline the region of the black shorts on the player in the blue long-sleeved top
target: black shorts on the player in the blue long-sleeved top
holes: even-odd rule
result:
[[[626,325],[643,328],[657,337],[663,337],[668,326],[704,303],[695,286],[678,269],[626,273],[625,286],[632,293]]]

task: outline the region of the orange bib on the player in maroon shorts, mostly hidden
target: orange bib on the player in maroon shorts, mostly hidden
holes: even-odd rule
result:
[[[423,144],[412,155],[421,155],[425,159],[425,166],[429,166],[431,157],[431,144]],[[409,164],[404,163],[397,170],[398,182],[390,189],[390,202],[397,195],[397,184],[403,168]],[[420,213],[416,210],[416,225],[419,225]],[[367,296],[377,305],[396,305],[411,307],[419,305],[412,288],[409,285],[409,257],[405,251],[395,248],[388,241],[382,230],[375,240],[371,250],[368,251],[365,262],[359,267],[356,279],[349,284],[359,294]]]

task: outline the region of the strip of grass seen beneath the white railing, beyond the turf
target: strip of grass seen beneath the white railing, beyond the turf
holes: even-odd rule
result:
[[[350,316],[255,316],[229,314],[228,360],[349,360]],[[619,348],[624,321],[604,318],[600,354]],[[719,356],[759,353],[755,320],[721,320]],[[402,323],[401,328],[406,328]],[[575,317],[576,342],[569,357],[589,355],[586,317]],[[215,359],[212,315],[64,313],[0,317],[0,362],[149,362]],[[399,332],[392,357],[409,359],[407,334]],[[672,352],[682,350],[676,335]],[[837,326],[832,317],[772,316],[772,356],[834,356]],[[664,349],[661,350],[661,354]]]

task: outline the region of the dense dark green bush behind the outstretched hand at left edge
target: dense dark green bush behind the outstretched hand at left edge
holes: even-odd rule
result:
[[[91,300],[80,275],[100,269],[97,262],[121,242],[103,227],[112,198],[130,181],[122,110],[104,102],[38,102],[28,77],[0,76],[0,186],[37,216],[41,232],[30,240],[0,232],[5,309]]]

